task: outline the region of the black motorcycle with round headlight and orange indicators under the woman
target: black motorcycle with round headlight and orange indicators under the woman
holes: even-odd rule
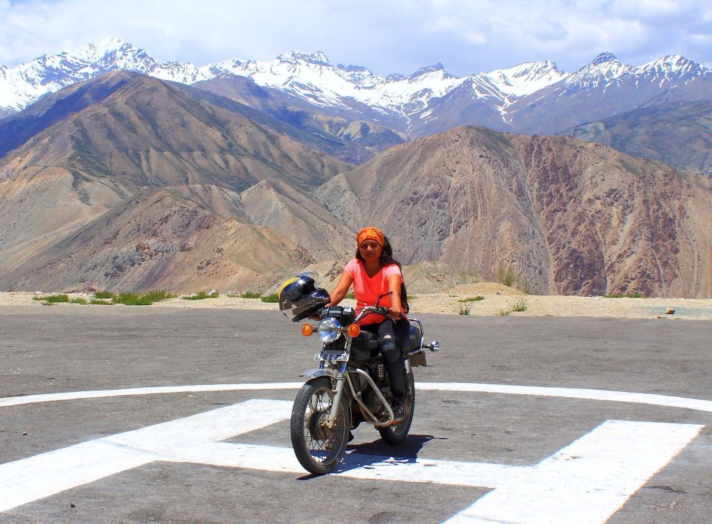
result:
[[[388,309],[378,305],[386,295],[358,314],[342,306],[322,308],[318,314],[316,332],[323,342],[314,357],[318,368],[300,375],[307,380],[294,400],[290,418],[294,454],[310,473],[334,471],[346,452],[351,430],[362,422],[372,424],[388,444],[401,444],[408,435],[415,409],[412,368],[426,366],[424,350],[435,352],[440,345],[436,340],[424,343],[422,323],[408,319],[407,337],[400,340],[406,377],[404,416],[396,419],[378,336],[358,325],[369,313],[388,318]],[[302,325],[303,335],[314,331],[313,325]]]

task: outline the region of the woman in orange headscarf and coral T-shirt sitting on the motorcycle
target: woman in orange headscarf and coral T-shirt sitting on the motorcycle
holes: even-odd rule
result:
[[[376,227],[365,227],[356,235],[356,258],[352,258],[336,288],[329,295],[328,305],[337,305],[354,286],[357,313],[367,305],[376,305],[380,295],[386,295],[379,301],[380,306],[388,308],[389,318],[370,313],[359,324],[362,330],[377,333],[381,353],[386,362],[386,372],[391,384],[392,403],[396,419],[403,417],[403,397],[405,394],[405,370],[398,337],[407,335],[410,323],[407,313],[407,300],[401,296],[404,289],[401,265],[393,258],[391,244],[383,232]],[[404,308],[405,306],[405,308]]]

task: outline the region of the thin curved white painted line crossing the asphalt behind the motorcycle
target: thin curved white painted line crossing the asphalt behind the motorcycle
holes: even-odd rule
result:
[[[201,384],[194,386],[135,387],[127,389],[105,389],[100,391],[80,391],[46,393],[5,397],[0,399],[0,407],[56,402],[59,400],[100,399],[105,397],[130,397],[132,395],[197,393],[215,391],[257,391],[268,389],[299,389],[303,382],[264,382],[261,384]],[[604,402],[629,402],[631,404],[651,404],[654,406],[696,409],[712,412],[712,401],[669,397],[651,393],[609,391],[606,389],[580,389],[568,387],[515,386],[509,384],[476,384],[467,382],[417,382],[416,389],[422,391],[452,391],[473,393],[499,393],[533,395],[538,397],[562,397],[568,399],[601,400]]]

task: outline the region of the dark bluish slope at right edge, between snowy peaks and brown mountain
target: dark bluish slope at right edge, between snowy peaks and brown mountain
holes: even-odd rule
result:
[[[653,105],[559,133],[712,176],[712,103]]]

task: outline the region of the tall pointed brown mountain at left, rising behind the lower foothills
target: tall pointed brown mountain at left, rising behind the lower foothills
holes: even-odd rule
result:
[[[12,179],[37,165],[137,187],[216,184],[240,190],[273,177],[313,187],[347,167],[244,115],[143,76],[33,137],[5,159],[0,172]]]

